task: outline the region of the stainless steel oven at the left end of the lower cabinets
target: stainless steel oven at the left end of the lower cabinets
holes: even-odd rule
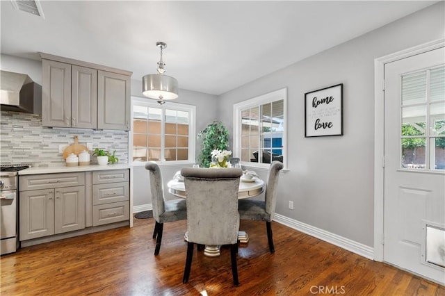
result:
[[[18,209],[19,178],[17,172],[24,170],[29,165],[1,165],[0,166],[0,254],[8,254],[17,251],[18,239]]]

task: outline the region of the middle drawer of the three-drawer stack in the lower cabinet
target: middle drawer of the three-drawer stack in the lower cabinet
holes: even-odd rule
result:
[[[129,182],[96,184],[92,186],[93,205],[124,202],[129,199]]]

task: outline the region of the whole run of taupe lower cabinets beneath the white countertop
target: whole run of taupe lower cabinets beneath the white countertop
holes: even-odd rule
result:
[[[128,221],[129,184],[127,169],[19,176],[19,240]]]

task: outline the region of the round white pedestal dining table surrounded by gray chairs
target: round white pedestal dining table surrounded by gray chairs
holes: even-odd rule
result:
[[[167,183],[168,192],[175,197],[186,198],[186,186],[184,180],[172,179]],[[239,189],[238,189],[238,199],[256,197],[264,192],[266,187],[266,182],[254,176],[250,180],[244,180],[243,177],[240,178]],[[187,236],[187,233],[186,233]],[[241,243],[248,243],[249,236],[245,231],[238,231],[238,240]],[[220,246],[206,245],[204,249],[204,255],[209,257],[220,256]]]

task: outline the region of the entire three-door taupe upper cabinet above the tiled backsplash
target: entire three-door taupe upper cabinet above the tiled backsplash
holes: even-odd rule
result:
[[[43,126],[129,131],[131,72],[40,56]]]

